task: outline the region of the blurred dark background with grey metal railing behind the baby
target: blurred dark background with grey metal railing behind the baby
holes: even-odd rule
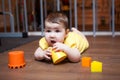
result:
[[[0,47],[44,36],[44,19],[55,11],[64,12],[69,28],[85,35],[120,35],[120,0],[0,0]]]

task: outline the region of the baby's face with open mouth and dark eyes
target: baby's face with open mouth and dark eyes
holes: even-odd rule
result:
[[[53,46],[56,42],[64,42],[66,30],[63,24],[45,22],[45,39],[49,46]]]

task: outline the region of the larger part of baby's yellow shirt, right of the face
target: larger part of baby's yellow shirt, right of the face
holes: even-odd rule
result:
[[[71,48],[78,48],[81,53],[89,47],[89,43],[85,36],[75,32],[69,32],[64,43]]]

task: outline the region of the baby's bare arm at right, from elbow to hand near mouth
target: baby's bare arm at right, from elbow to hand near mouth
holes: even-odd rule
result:
[[[55,43],[53,48],[55,48],[56,51],[57,50],[64,51],[71,62],[80,61],[80,52],[77,48],[70,48],[69,46],[59,42]]]

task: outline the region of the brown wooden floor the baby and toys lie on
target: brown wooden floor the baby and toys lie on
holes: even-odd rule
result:
[[[20,69],[8,68],[8,52],[0,54],[0,80],[120,80],[120,37],[87,37],[90,48],[83,56],[103,63],[103,72],[92,73],[83,68],[81,62],[64,62],[58,65],[35,61],[33,53],[38,40],[14,48],[25,52],[26,66]],[[10,50],[10,51],[13,51]]]

